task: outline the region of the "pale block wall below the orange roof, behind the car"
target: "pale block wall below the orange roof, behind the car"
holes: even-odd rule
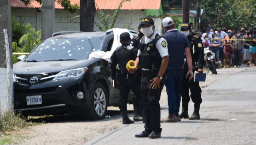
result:
[[[16,20],[23,19],[24,24],[31,22],[32,27],[36,30],[41,29],[41,12],[37,12],[35,8],[12,8],[12,13]],[[108,14],[113,16],[114,10],[104,10],[104,14],[105,16]],[[79,12],[71,14],[63,9],[55,9],[54,32],[67,30],[80,31],[79,18],[73,19],[71,22],[66,22],[69,18],[77,15],[79,15]],[[145,12],[141,10],[121,10],[115,22],[115,28],[128,28],[137,31],[138,25],[143,17],[145,17]],[[94,20],[101,25],[97,11]],[[109,27],[110,25],[111,19],[109,19]],[[99,31],[95,24],[94,31]]]

